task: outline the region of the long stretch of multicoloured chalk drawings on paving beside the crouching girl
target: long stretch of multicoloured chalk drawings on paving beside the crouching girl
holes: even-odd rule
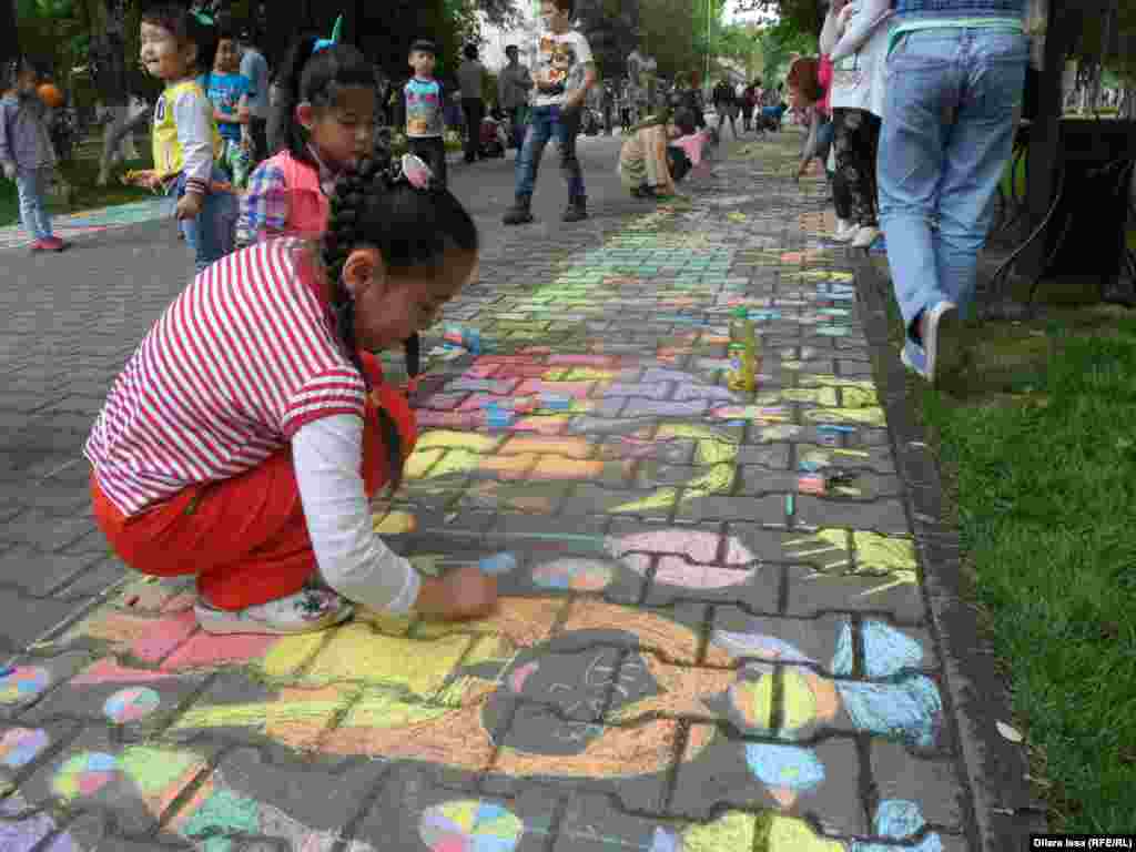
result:
[[[25,665],[0,679],[0,710],[48,693],[112,730],[176,712],[144,743],[50,759],[27,734],[0,741],[0,760],[32,771],[22,801],[128,812],[207,852],[247,837],[304,852],[941,852],[941,829],[961,830],[951,794],[920,783],[925,766],[954,771],[941,667],[921,616],[888,610],[918,595],[914,543],[793,523],[799,474],[888,474],[875,385],[844,371],[853,285],[824,249],[762,242],[799,206],[754,209],[761,197],[730,201],[719,179],[717,203],[657,209],[550,281],[485,296],[469,320],[484,351],[427,350],[436,381],[416,399],[406,491],[376,503],[375,528],[424,574],[495,576],[493,616],[362,610],[319,635],[212,637],[184,584],[132,585],[132,605],[108,601],[39,650],[85,649],[75,677]],[[770,341],[749,396],[724,375],[740,304]],[[776,493],[722,521],[746,476]],[[510,523],[462,525],[476,513]],[[790,587],[840,591],[791,617]],[[210,742],[264,762],[218,760]],[[924,761],[903,772],[911,788],[861,802],[895,753]],[[320,761],[374,767],[358,808],[393,810],[331,819],[341,782]],[[22,836],[23,852],[42,826]],[[78,827],[64,836],[93,849]]]

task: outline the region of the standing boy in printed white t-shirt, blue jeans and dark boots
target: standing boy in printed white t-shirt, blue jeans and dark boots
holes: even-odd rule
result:
[[[595,62],[587,39],[571,28],[576,0],[542,0],[543,31],[533,69],[533,110],[528,133],[517,157],[517,198],[504,215],[506,225],[533,220],[532,201],[536,170],[549,140],[560,147],[560,170],[568,182],[565,222],[587,218],[584,173],[576,159],[580,107],[595,85]]]

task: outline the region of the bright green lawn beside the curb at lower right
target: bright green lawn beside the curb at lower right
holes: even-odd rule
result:
[[[1136,319],[1076,295],[970,327],[978,367],[909,394],[1051,829],[1136,832]]]

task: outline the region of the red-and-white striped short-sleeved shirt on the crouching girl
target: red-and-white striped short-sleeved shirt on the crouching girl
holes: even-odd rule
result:
[[[142,341],[84,454],[126,516],[264,462],[307,423],[365,411],[317,272],[292,239],[199,274]]]

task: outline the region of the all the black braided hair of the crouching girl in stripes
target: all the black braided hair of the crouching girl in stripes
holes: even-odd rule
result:
[[[400,179],[398,166],[391,164],[381,147],[374,157],[340,177],[331,199],[323,260],[333,285],[336,334],[364,382],[369,385],[356,341],[354,302],[343,282],[343,267],[351,251],[359,245],[376,248],[387,274],[436,274],[443,268],[446,249],[476,252],[477,243],[477,226],[461,202],[445,187],[415,189]],[[408,341],[408,350],[417,352],[417,345],[416,335]],[[382,407],[378,418],[389,452],[393,495],[402,483],[402,441],[393,418]]]

